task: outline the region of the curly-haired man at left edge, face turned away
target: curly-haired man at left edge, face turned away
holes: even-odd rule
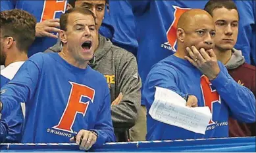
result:
[[[24,10],[5,10],[0,12],[0,25],[0,65],[5,65],[0,76],[2,88],[28,59],[28,48],[35,40],[36,18]],[[0,143],[20,143],[24,114],[25,105],[20,103],[12,116],[2,116],[5,119],[1,120]]]

